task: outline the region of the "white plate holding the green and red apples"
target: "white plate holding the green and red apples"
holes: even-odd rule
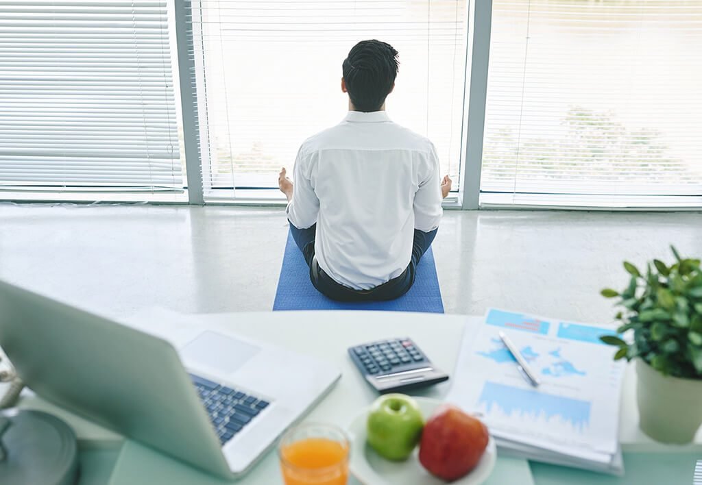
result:
[[[424,418],[429,418],[435,409],[444,401],[438,399],[430,399],[428,397],[415,397],[419,404]],[[438,479],[430,474],[419,463],[418,449],[414,450],[404,462],[392,462],[380,458],[378,454],[366,445],[366,419],[370,406],[360,413],[351,423],[349,427],[349,435],[351,439],[350,453],[350,469],[351,473],[362,484],[366,485],[444,485],[446,481]],[[485,453],[480,458],[480,461],[469,474],[465,477],[451,482],[453,485],[478,485],[490,476],[492,469],[495,466],[497,458],[497,448],[495,440],[490,437]]]

